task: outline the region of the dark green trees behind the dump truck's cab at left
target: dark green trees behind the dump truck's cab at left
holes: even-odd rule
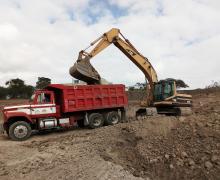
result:
[[[25,84],[24,80],[16,78],[5,82],[5,87],[0,86],[0,99],[28,99],[35,89],[43,89],[51,84],[51,79],[38,77],[36,86]]]

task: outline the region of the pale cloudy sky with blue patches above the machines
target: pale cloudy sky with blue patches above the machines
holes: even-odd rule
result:
[[[191,89],[220,81],[219,0],[0,0],[0,86],[17,77],[72,82],[78,52],[111,28],[148,57],[159,79]],[[91,63],[112,83],[145,81],[114,45]]]

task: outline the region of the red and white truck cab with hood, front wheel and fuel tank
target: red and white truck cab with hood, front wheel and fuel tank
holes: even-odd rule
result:
[[[35,91],[29,103],[3,108],[3,128],[13,140],[25,140],[31,130],[55,127],[59,112],[53,91]]]

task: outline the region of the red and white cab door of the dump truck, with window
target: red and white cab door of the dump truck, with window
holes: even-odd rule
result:
[[[35,103],[31,105],[31,115],[37,117],[54,117],[56,115],[56,104],[52,92],[37,94]]]

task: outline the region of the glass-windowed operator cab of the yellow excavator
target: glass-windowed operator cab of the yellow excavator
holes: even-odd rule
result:
[[[159,81],[154,85],[154,102],[164,101],[166,98],[175,94],[175,81]]]

